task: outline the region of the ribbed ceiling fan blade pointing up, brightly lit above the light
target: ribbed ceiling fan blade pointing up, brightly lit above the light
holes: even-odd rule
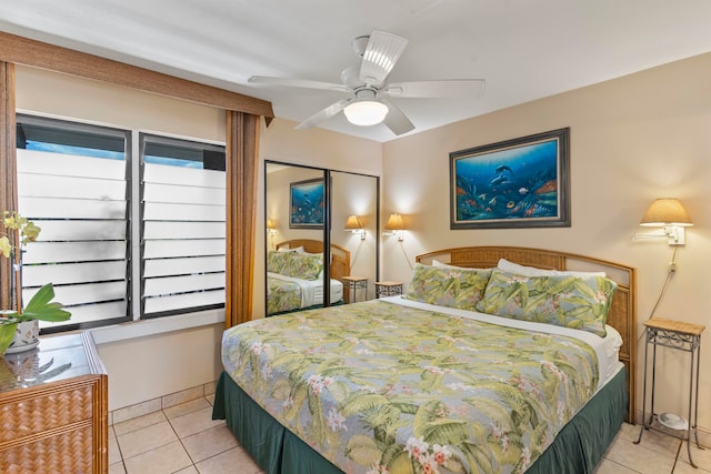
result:
[[[360,80],[367,85],[381,85],[407,46],[408,40],[395,34],[378,30],[370,33],[360,65]]]

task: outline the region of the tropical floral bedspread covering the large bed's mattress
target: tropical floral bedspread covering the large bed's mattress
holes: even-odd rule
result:
[[[383,301],[226,331],[231,377],[347,473],[519,473],[592,395],[597,356]]]

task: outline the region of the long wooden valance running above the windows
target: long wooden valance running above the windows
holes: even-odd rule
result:
[[[0,61],[262,115],[267,123],[274,117],[269,101],[4,32],[0,32]]]

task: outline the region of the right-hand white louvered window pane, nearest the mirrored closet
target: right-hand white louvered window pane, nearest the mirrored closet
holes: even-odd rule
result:
[[[142,135],[142,313],[224,305],[223,147]]]

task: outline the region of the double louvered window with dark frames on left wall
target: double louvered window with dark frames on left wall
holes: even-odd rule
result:
[[[72,313],[43,332],[223,306],[224,147],[17,122],[20,213],[42,228],[23,254],[23,301],[52,282]]]

